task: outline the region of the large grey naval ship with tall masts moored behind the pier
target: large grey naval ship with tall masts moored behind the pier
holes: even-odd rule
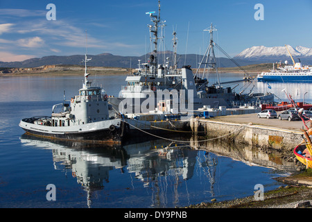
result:
[[[141,105],[149,103],[148,112],[153,112],[155,108],[157,111],[162,111],[159,110],[159,108],[162,109],[162,107],[159,107],[161,106],[159,102],[174,100],[175,94],[179,98],[175,100],[177,106],[182,101],[184,104],[188,104],[188,110],[191,111],[203,107],[219,108],[220,106],[225,106],[234,108],[235,105],[244,105],[246,103],[250,105],[254,103],[255,105],[264,101],[266,103],[274,101],[274,94],[270,92],[263,94],[254,93],[250,90],[248,94],[243,94],[243,91],[236,93],[231,87],[222,87],[220,81],[218,81],[218,84],[208,85],[209,81],[205,78],[207,76],[205,71],[213,69],[218,75],[216,58],[214,56],[214,46],[218,45],[213,41],[212,34],[216,29],[212,24],[209,29],[205,30],[210,33],[209,47],[200,62],[196,74],[193,74],[193,70],[189,65],[184,65],[182,69],[177,69],[177,33],[175,31],[173,31],[172,62],[169,61],[169,58],[166,58],[164,64],[161,65],[158,59],[158,55],[161,54],[158,51],[158,40],[164,40],[164,36],[159,35],[159,33],[164,33],[162,28],[165,26],[165,21],[160,19],[159,1],[158,15],[155,15],[155,11],[146,12],[146,14],[150,15],[150,21],[152,22],[152,24],[148,25],[148,28],[153,51],[150,53],[146,63],[141,63],[139,60],[138,69],[125,78],[127,85],[121,87],[119,97],[109,99],[110,104],[116,110],[124,114],[146,112],[142,110]],[[220,47],[218,46],[218,48]],[[171,65],[169,65],[170,63]],[[205,67],[201,68],[202,65]],[[200,74],[202,70],[203,73]],[[220,80],[219,77],[218,79]],[[252,83],[252,80],[252,78],[247,77],[237,82],[248,81]],[[185,109],[180,110],[176,108],[177,106],[171,109],[173,113],[185,111]]]

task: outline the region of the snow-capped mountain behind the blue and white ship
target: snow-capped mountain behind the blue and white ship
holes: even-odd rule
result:
[[[291,52],[291,56],[295,58],[305,58],[312,56],[312,48],[307,48],[304,46],[293,46],[287,45],[288,50]],[[243,50],[239,55],[235,56],[241,59],[265,59],[265,58],[286,58],[290,57],[286,49],[286,46],[252,46],[251,48]]]

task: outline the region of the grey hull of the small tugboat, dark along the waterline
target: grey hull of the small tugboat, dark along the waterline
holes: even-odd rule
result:
[[[37,125],[29,119],[22,119],[19,126],[30,135],[50,139],[118,144],[123,137],[119,119],[61,127]]]

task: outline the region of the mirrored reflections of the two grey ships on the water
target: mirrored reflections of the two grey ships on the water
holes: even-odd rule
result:
[[[92,207],[94,192],[105,189],[105,183],[110,182],[110,171],[114,169],[119,169],[121,173],[134,173],[143,187],[149,186],[155,192],[151,207],[163,207],[164,203],[159,201],[166,202],[166,197],[158,183],[164,182],[162,178],[171,177],[176,180],[174,186],[177,187],[179,183],[192,178],[198,155],[198,151],[171,146],[168,142],[158,140],[103,147],[103,144],[50,140],[24,134],[21,136],[21,143],[51,149],[54,169],[65,169],[66,172],[71,170],[73,178],[87,191],[88,207]],[[159,200],[157,196],[162,196],[163,200]],[[176,194],[175,197],[177,196],[179,195]],[[175,199],[175,203],[178,202]]]

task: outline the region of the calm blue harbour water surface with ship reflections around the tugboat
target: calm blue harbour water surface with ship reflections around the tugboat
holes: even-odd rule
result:
[[[232,78],[237,74],[225,80]],[[118,96],[124,79],[97,76],[95,82]],[[286,173],[166,140],[112,149],[24,135],[21,118],[51,115],[64,90],[69,99],[82,83],[83,76],[0,78],[0,207],[180,207],[253,195],[256,184],[274,189],[280,184],[272,178]],[[270,85],[285,100],[281,89],[302,100],[310,87]],[[257,83],[253,90],[268,88]],[[311,99],[309,92],[305,100]],[[56,187],[55,201],[46,200],[49,184]]]

